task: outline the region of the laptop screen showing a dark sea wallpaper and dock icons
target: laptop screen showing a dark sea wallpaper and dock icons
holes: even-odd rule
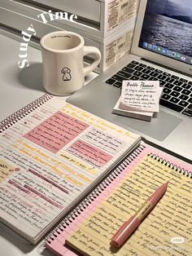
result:
[[[192,65],[191,0],[148,0],[139,47]]]

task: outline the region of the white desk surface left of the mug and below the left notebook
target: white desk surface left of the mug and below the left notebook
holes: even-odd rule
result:
[[[24,107],[45,94],[41,83],[41,51],[28,47],[28,68],[20,69],[20,42],[0,34],[0,122],[11,113]],[[96,77],[91,73],[86,82]],[[63,97],[63,102],[66,97]],[[10,228],[0,223],[0,256],[50,256],[48,250],[42,251],[42,244],[28,244]]]

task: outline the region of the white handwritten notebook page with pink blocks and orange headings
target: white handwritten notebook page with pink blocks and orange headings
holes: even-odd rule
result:
[[[139,136],[57,97],[0,134],[0,219],[33,243]]]

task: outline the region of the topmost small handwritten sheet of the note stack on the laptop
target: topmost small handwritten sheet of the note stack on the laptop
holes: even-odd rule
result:
[[[127,110],[159,112],[159,82],[123,81],[120,99]]]

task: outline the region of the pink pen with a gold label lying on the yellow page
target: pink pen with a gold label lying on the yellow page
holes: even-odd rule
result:
[[[145,201],[145,203],[137,210],[137,212],[126,221],[111,239],[111,246],[119,248],[125,240],[133,233],[133,231],[142,222],[142,219],[153,209],[159,199],[164,195],[168,188],[168,183],[164,183]]]

